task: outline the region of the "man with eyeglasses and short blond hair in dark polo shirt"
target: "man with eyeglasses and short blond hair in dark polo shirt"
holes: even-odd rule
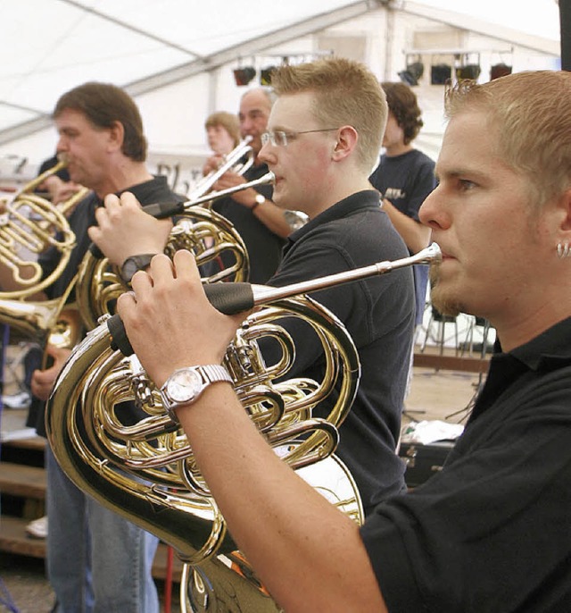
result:
[[[282,68],[272,86],[277,101],[259,157],[276,175],[277,206],[302,211],[309,222],[287,239],[269,285],[408,256],[368,182],[387,117],[385,94],[375,77],[358,63],[336,58]],[[341,425],[337,454],[368,513],[378,500],[404,488],[395,447],[414,319],[412,273],[404,269],[311,296],[345,324],[359,351],[360,386]],[[284,326],[297,349],[288,376],[320,380],[319,342],[303,323],[285,321]],[[271,363],[272,348],[262,350]],[[318,415],[327,416],[333,402],[322,402]]]

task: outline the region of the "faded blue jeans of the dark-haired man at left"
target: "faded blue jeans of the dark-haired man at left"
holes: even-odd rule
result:
[[[80,491],[49,446],[46,468],[47,576],[58,613],[158,613],[158,539]]]

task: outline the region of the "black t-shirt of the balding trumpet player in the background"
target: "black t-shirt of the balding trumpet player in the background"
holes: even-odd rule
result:
[[[268,166],[261,164],[252,166],[244,172],[246,181],[254,181],[268,172]],[[271,185],[261,185],[256,191],[271,199]],[[250,261],[250,277],[252,283],[266,283],[276,272],[281,260],[285,240],[270,231],[268,227],[252,213],[252,211],[237,203],[231,197],[220,198],[212,204],[212,209],[230,221],[244,240]],[[224,261],[224,254],[223,254]]]

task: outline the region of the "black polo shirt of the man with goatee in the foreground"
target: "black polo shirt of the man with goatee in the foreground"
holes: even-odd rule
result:
[[[571,318],[492,357],[443,470],[361,534],[390,611],[571,610]]]

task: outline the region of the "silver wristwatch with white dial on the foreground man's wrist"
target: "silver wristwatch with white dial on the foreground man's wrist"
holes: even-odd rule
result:
[[[178,424],[174,409],[194,402],[211,383],[228,381],[232,377],[224,366],[211,364],[178,368],[161,387],[162,405],[173,422]]]

